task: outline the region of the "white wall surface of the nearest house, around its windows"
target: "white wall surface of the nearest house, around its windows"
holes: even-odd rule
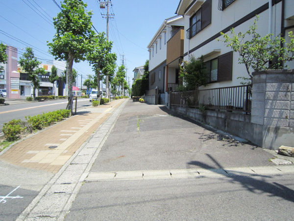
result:
[[[230,27],[233,23],[239,21],[240,19],[244,18],[247,14],[253,12],[257,8],[261,7],[262,5],[268,3],[268,0],[236,0],[223,11],[218,9],[219,0],[212,0],[212,18],[211,24],[208,25],[206,28],[198,32],[195,36],[190,39],[185,37],[184,40],[184,60],[188,60],[188,47],[189,51],[193,50],[196,46],[200,45],[210,37],[220,33],[223,29]],[[288,5],[289,4],[289,5]],[[274,35],[277,35],[281,32],[281,5],[282,2],[279,2],[272,6],[272,26],[271,31]],[[291,17],[294,14],[294,0],[286,0],[286,12],[285,18]],[[200,7],[196,8],[194,13]],[[291,8],[291,9],[290,9]],[[190,12],[189,12],[190,14]],[[248,30],[249,26],[253,25],[255,17],[251,18],[250,20],[245,21],[241,25],[235,28],[235,32],[243,32]],[[190,16],[185,16],[185,30],[190,27]],[[259,20],[257,22],[258,33],[261,36],[268,34],[269,31],[269,9],[265,10],[264,12],[259,14]],[[287,30],[289,32],[291,29]],[[229,33],[229,32],[227,32]],[[219,37],[220,39],[222,37]],[[245,40],[250,40],[245,39]],[[231,48],[227,48],[224,43],[217,41],[214,39],[213,41],[207,43],[206,45],[200,47],[194,52],[190,52],[190,55],[194,55],[195,57],[200,57],[201,55],[207,55],[212,51],[220,49],[221,52],[215,53],[211,56],[205,57],[206,60],[210,60],[213,58],[218,57],[219,55],[223,55],[227,52],[232,51]],[[215,87],[225,87],[225,86],[234,86],[240,85],[241,80],[237,79],[238,77],[247,77],[247,72],[245,69],[244,64],[238,63],[239,55],[237,53],[233,53],[233,79],[232,81],[220,82],[220,83],[210,83],[206,86],[206,88],[215,88]],[[292,66],[294,67],[293,63]]]

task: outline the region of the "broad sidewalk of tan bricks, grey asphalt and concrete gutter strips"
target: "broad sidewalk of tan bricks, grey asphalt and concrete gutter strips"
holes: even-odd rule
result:
[[[17,220],[64,220],[85,181],[294,173],[294,166],[274,166],[263,149],[202,126],[164,106],[126,99],[79,111],[0,156],[43,177]],[[6,177],[0,184],[9,183]],[[24,177],[24,185],[30,189],[34,180]]]

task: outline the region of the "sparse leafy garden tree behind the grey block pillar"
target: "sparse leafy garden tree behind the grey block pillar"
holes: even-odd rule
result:
[[[245,64],[249,77],[243,78],[243,80],[247,80],[249,83],[252,82],[252,70],[282,69],[282,62],[294,59],[293,32],[289,32],[290,42],[286,43],[285,46],[281,46],[281,43],[282,45],[285,43],[285,39],[281,37],[281,35],[273,37],[270,33],[261,37],[261,35],[257,33],[256,23],[258,18],[259,16],[256,16],[254,24],[250,26],[249,30],[244,34],[242,32],[236,34],[234,28],[231,28],[230,34],[232,37],[221,32],[224,40],[219,39],[219,41],[224,42],[226,46],[230,47],[234,52],[239,53],[239,63]],[[276,60],[276,62],[272,62],[274,60]]]

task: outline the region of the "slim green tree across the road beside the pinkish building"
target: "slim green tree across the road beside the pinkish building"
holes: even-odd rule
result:
[[[41,62],[37,60],[31,48],[25,48],[25,53],[20,58],[19,64],[22,66],[23,70],[25,70],[28,80],[33,85],[33,96],[34,100],[36,100],[36,89],[40,87],[40,79],[38,75],[44,75],[46,74],[46,71],[44,68],[39,68]]]

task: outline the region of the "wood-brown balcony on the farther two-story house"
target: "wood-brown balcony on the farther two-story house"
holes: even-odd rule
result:
[[[180,28],[168,41],[167,64],[184,55],[184,29]]]

